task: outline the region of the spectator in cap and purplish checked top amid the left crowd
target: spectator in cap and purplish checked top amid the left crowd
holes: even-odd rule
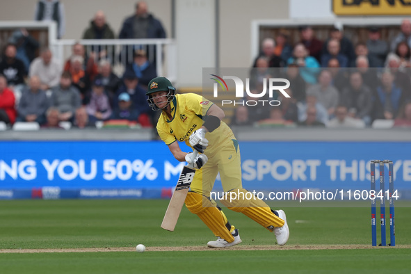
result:
[[[86,106],[86,111],[89,115],[88,120],[92,123],[110,118],[111,106],[104,92],[102,79],[96,78],[92,83],[90,102]]]

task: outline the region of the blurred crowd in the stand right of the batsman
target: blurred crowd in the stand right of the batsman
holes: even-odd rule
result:
[[[261,93],[269,78],[290,81],[290,98],[278,92],[279,106],[237,104],[232,125],[298,127],[411,127],[411,22],[403,19],[398,35],[382,40],[370,27],[368,38],[353,45],[342,26],[319,40],[312,26],[300,26],[300,40],[289,31],[261,42],[250,71],[250,92]]]

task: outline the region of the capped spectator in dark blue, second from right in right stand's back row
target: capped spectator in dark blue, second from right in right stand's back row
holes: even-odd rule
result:
[[[381,40],[380,30],[375,26],[368,30],[366,47],[369,51],[369,67],[384,67],[385,58],[388,54],[388,44]]]

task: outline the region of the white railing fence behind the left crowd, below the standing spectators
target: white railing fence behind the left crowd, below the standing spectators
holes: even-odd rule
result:
[[[106,50],[111,56],[113,71],[122,76],[128,63],[132,62],[134,49],[145,49],[149,61],[156,66],[157,75],[166,76],[170,81],[177,81],[177,46],[172,39],[113,39],[113,40],[68,40],[56,39],[55,22],[36,21],[0,21],[0,31],[25,28],[30,30],[47,30],[48,46],[63,65],[72,54],[72,45],[79,42],[90,56],[95,47]],[[7,33],[6,33],[7,34]],[[0,35],[1,36],[1,35]],[[5,40],[6,37],[4,37]],[[45,46],[45,45],[42,45]],[[97,59],[97,56],[96,56]],[[96,60],[97,61],[97,60]]]

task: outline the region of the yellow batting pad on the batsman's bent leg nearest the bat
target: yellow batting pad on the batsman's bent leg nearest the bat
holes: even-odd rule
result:
[[[204,204],[204,207],[203,207]],[[228,243],[234,241],[234,237],[229,232],[225,223],[227,218],[224,218],[223,212],[213,206],[211,201],[195,192],[188,192],[186,197],[186,207],[191,212],[196,214],[209,227],[214,235],[225,239]]]

